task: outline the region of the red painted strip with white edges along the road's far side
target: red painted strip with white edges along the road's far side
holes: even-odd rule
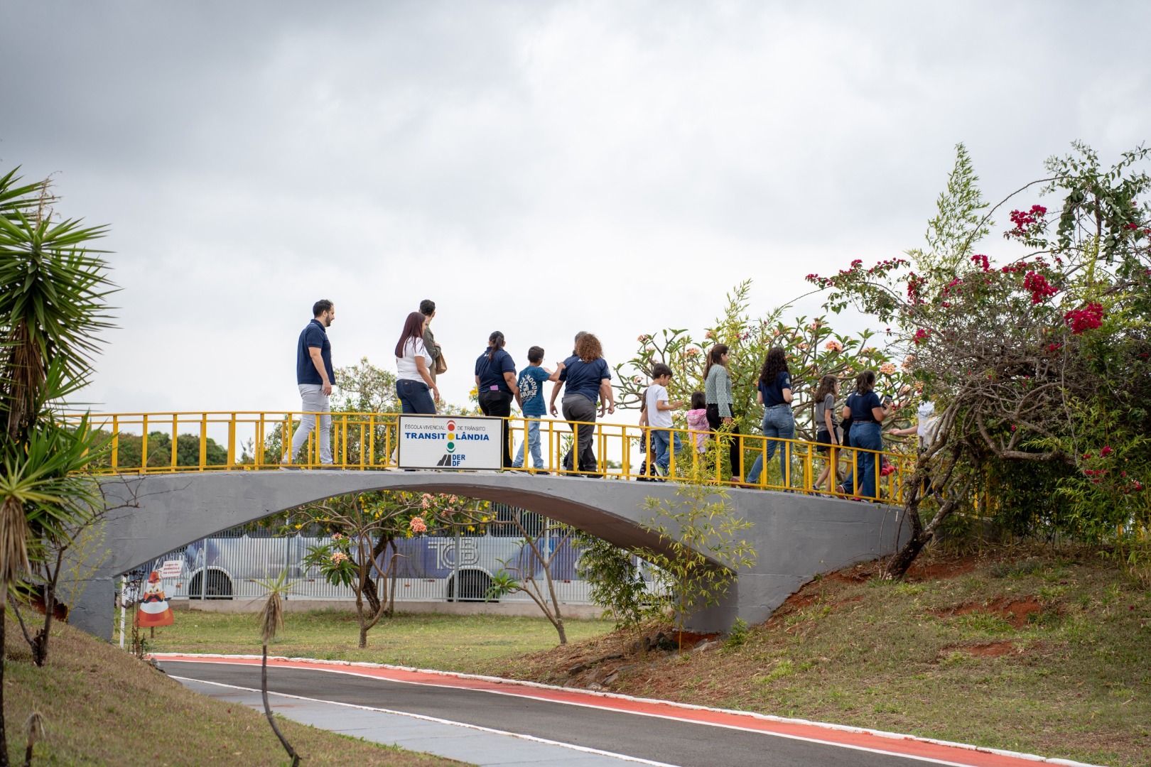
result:
[[[175,660],[200,664],[236,664],[258,666],[258,655],[212,655],[153,653],[157,660]],[[306,658],[268,658],[268,666],[281,668],[304,668],[310,670],[350,674],[368,678],[405,682],[429,687],[455,688],[464,690],[481,690],[498,695],[534,698],[569,705],[588,706],[604,711],[619,711],[647,716],[660,716],[685,722],[698,722],[715,727],[738,728],[760,731],[784,737],[817,741],[830,745],[868,749],[885,753],[932,759],[970,767],[1022,767],[1023,765],[1054,764],[1083,765],[1065,759],[1047,759],[1034,754],[1013,753],[998,749],[981,749],[960,743],[947,743],[920,738],[914,735],[898,735],[855,727],[823,724],[802,720],[788,720],[778,716],[755,714],[752,712],[708,708],[670,700],[650,698],[633,698],[610,692],[557,688],[535,682],[502,680],[491,676],[475,676],[453,672],[435,672],[425,669],[387,666],[382,664],[359,664],[340,660],[313,660]],[[1083,767],[1092,767],[1083,765]]]

